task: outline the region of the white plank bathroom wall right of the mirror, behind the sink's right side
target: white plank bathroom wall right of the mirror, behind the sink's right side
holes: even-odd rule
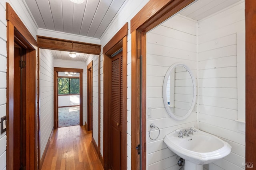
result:
[[[238,44],[245,43],[238,43],[237,37],[245,36],[244,25],[244,2],[199,22],[199,127],[232,146],[228,156],[204,165],[207,170],[244,169],[245,134],[238,130],[235,121],[238,119],[237,84],[241,81],[237,78],[237,58],[244,57],[237,51],[243,51]]]

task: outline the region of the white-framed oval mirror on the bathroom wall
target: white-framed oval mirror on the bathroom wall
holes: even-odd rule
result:
[[[166,111],[175,120],[184,120],[196,103],[196,84],[185,64],[170,66],[164,77],[163,99]]]

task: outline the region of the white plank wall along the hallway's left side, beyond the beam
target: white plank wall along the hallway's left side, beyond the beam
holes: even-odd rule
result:
[[[50,50],[40,49],[40,145],[41,158],[54,123],[54,58]]]

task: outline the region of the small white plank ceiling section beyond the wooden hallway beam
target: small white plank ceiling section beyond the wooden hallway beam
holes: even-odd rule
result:
[[[59,59],[59,60],[69,60],[69,61],[81,61],[81,62],[86,62],[87,59],[91,56],[93,57],[94,55],[92,54],[84,54],[84,53],[76,53],[75,58],[69,57],[69,51],[58,51],[58,50],[50,50],[52,53],[52,56],[54,59]]]

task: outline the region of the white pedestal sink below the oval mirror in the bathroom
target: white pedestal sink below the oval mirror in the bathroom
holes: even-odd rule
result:
[[[167,147],[185,160],[185,170],[202,170],[203,164],[209,164],[230,154],[231,146],[222,139],[200,131],[183,138],[178,137],[188,127],[177,129],[164,137]],[[180,136],[182,134],[180,133]]]

